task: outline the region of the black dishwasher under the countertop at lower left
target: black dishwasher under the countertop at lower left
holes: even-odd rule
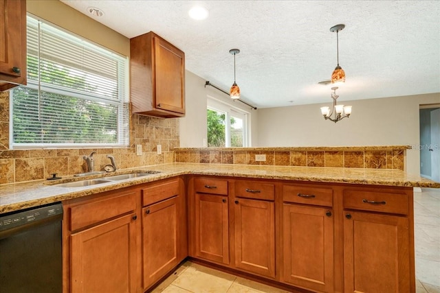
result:
[[[0,291],[63,291],[63,206],[49,204],[0,216]]]

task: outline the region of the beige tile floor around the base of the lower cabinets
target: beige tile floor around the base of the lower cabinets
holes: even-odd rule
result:
[[[440,293],[440,189],[414,194],[417,293]],[[153,293],[287,293],[187,261]]]

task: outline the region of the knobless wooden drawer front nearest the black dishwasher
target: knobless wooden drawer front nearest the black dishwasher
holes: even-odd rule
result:
[[[136,192],[94,200],[70,208],[70,230],[75,231],[136,209]]]

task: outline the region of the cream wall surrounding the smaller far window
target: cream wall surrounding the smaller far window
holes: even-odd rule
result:
[[[214,89],[212,86],[205,87],[206,80],[190,71],[186,71],[185,74],[186,115],[184,118],[179,119],[180,147],[202,148],[203,139],[208,138],[206,132],[206,101],[208,95],[250,113],[250,141],[254,145],[257,139],[257,134],[254,132],[257,129],[258,110],[250,110],[249,106],[238,101],[233,102],[228,95]],[[228,91],[229,89],[223,90]]]

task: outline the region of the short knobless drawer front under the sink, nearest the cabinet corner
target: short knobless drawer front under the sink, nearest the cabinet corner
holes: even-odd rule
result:
[[[142,207],[179,194],[179,179],[167,180],[142,189]]]

